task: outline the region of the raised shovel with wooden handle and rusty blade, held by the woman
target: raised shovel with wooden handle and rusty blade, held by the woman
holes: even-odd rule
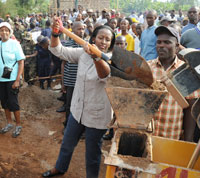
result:
[[[63,29],[63,33],[75,40],[80,45],[84,45],[86,43],[86,41],[84,41],[82,38],[65,28]],[[128,77],[129,80],[137,79],[149,86],[153,83],[151,69],[145,59],[143,59],[141,56],[115,46],[112,58],[110,59],[110,56],[107,56],[105,53],[91,44],[88,44],[88,47],[92,53],[96,54],[111,66],[112,76],[115,76],[116,74],[119,76],[119,74],[121,74],[119,77],[124,79],[127,79]],[[111,60],[111,64],[108,62],[109,60]]]

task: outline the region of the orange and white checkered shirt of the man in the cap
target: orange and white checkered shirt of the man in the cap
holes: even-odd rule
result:
[[[148,64],[152,70],[154,80],[160,80],[162,76],[174,71],[184,64],[184,62],[176,57],[174,63],[166,71],[162,67],[158,58],[148,61]],[[198,97],[200,97],[200,89],[186,98],[192,99]],[[168,93],[154,115],[154,135],[171,139],[180,139],[182,125],[183,109],[170,93]]]

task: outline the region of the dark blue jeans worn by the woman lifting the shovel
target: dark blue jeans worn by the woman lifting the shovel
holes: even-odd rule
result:
[[[101,163],[102,137],[106,129],[89,128],[78,123],[72,114],[69,115],[60,153],[55,168],[60,172],[68,170],[74,148],[85,131],[86,175],[87,178],[98,178]]]

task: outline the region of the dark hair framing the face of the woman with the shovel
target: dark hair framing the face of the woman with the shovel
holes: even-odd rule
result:
[[[112,49],[113,49],[113,47],[115,45],[115,33],[113,32],[112,28],[110,28],[107,25],[101,25],[101,26],[98,26],[97,28],[95,28],[95,30],[93,31],[93,33],[92,33],[92,35],[90,37],[89,43],[90,44],[94,44],[94,38],[96,38],[96,36],[99,33],[99,31],[102,30],[102,29],[110,30],[110,32],[112,33],[111,44],[110,44],[110,47],[108,48],[108,51],[112,51]]]

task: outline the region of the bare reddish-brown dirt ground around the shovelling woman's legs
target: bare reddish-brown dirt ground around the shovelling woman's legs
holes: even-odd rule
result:
[[[0,135],[0,178],[39,178],[56,162],[61,141],[64,113],[56,109],[62,105],[57,100],[60,93],[41,90],[37,86],[20,89],[22,132],[12,138],[12,132]],[[6,120],[0,108],[0,128]],[[110,149],[111,142],[104,141],[103,150]],[[106,174],[102,156],[100,178]],[[81,140],[75,149],[68,172],[63,178],[84,178],[85,142]]]

